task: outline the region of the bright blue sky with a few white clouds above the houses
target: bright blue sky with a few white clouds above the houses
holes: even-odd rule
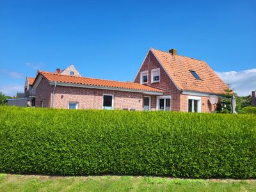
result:
[[[0,91],[71,63],[82,76],[132,81],[154,47],[207,61],[246,95],[256,89],[255,10],[256,1],[0,0]]]

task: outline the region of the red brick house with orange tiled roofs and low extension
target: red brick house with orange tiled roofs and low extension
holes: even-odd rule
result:
[[[211,95],[228,86],[207,63],[150,49],[133,83],[81,77],[74,65],[56,72],[38,70],[36,107],[212,112]]]

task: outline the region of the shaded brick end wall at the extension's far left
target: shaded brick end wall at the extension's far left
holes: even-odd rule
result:
[[[49,81],[43,78],[36,88],[36,101],[35,106],[41,107],[41,102],[44,102],[44,108],[51,107],[51,93],[53,86],[49,84]]]

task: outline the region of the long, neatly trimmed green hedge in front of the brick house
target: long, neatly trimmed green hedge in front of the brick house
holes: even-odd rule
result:
[[[256,178],[256,116],[0,107],[0,172]]]

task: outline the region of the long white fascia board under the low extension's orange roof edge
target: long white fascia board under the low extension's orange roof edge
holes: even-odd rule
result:
[[[54,85],[54,81],[50,81],[51,85]],[[115,87],[108,87],[108,86],[95,86],[90,84],[75,84],[75,83],[61,83],[58,82],[57,86],[72,86],[72,87],[79,87],[79,88],[92,88],[92,89],[99,89],[99,90],[113,90],[113,91],[120,91],[120,92],[136,92],[136,93],[143,93],[145,95],[163,95],[163,92],[150,92],[145,90],[131,90],[125,88],[115,88]]]

